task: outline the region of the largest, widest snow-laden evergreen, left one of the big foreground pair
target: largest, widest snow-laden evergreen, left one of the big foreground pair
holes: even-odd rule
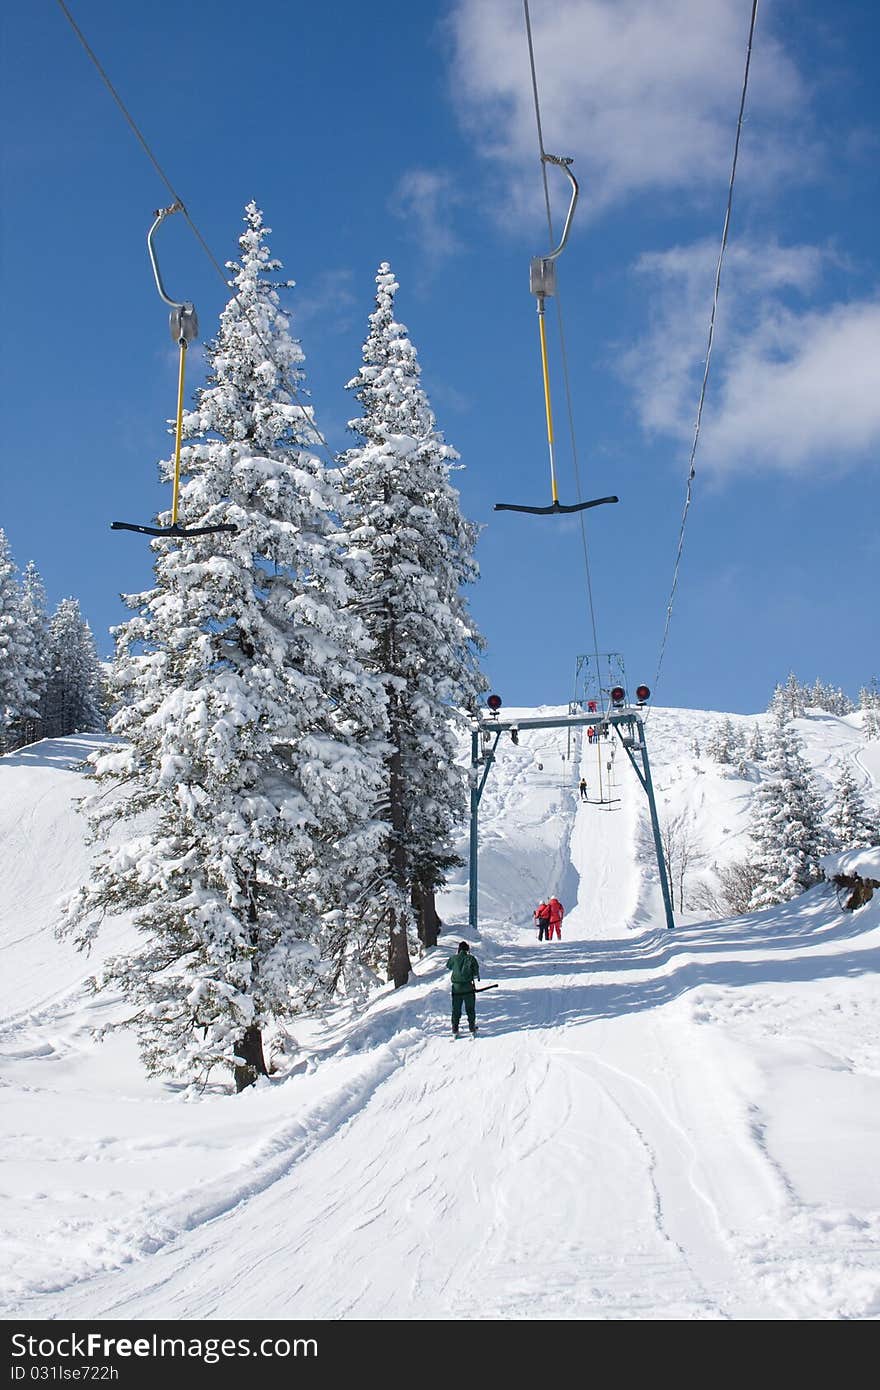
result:
[[[181,489],[184,524],[238,531],[154,541],[154,588],[128,599],[111,721],[125,746],[97,760],[118,791],[95,823],[139,824],[65,924],[88,944],[104,912],[133,912],[142,944],[100,983],[135,1005],[147,1070],[227,1065],[239,1088],[266,1072],[266,1029],[363,983],[345,910],[381,876],[386,837],[384,692],[359,659],[339,498],[289,391],[303,354],[254,203],[245,224]]]

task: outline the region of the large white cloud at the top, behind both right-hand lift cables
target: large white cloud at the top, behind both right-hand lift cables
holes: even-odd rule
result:
[[[742,0],[535,0],[545,149],[571,154],[587,214],[635,193],[699,190],[727,178],[749,7]],[[791,60],[759,18],[749,78],[749,179],[799,160],[787,115],[802,104]],[[482,154],[521,171],[510,197],[538,211],[537,131],[523,8],[457,0],[453,99]]]

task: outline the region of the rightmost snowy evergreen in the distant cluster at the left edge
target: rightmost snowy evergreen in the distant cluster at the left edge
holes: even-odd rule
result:
[[[76,599],[61,599],[49,624],[43,738],[93,734],[104,727],[103,674],[92,628]]]

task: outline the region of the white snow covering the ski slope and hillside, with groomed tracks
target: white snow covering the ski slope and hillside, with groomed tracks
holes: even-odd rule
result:
[[[720,717],[648,719],[703,874],[745,855],[755,785],[695,756]],[[845,759],[876,805],[859,716],[797,727],[826,790]],[[670,933],[623,751],[523,731],[481,806],[481,1036],[449,1037],[462,878],[410,986],[303,1023],[286,1073],[193,1097],[93,1040],[121,1005],[53,935],[88,874],[93,744],[0,759],[3,1318],[880,1319],[880,895]]]

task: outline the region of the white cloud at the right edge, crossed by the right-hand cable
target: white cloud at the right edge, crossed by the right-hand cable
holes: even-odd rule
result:
[[[642,256],[652,321],[621,359],[649,432],[690,442],[717,249]],[[830,252],[738,245],[722,279],[698,470],[840,471],[880,449],[880,300],[799,307]],[[792,303],[794,300],[794,303]]]

